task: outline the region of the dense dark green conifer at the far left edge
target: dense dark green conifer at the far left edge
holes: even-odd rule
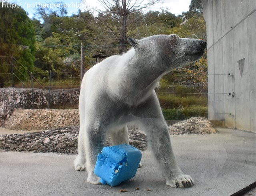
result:
[[[14,56],[18,61],[14,63],[15,75],[22,80],[25,76],[28,77],[28,71],[32,71],[34,66],[34,25],[22,8],[10,8],[5,5],[4,2],[0,2],[0,56]],[[0,59],[0,64],[10,63],[10,60],[6,61],[2,62]],[[6,67],[0,66],[0,73],[10,73],[10,67],[8,70],[4,69]],[[0,83],[6,80],[6,76],[1,74]]]

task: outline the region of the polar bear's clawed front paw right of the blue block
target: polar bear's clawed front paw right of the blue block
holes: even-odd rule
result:
[[[187,188],[195,184],[194,180],[188,175],[178,175],[172,179],[166,180],[166,184],[174,188]]]

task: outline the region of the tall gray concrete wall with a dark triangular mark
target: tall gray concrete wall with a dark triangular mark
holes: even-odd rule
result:
[[[203,6],[209,119],[256,132],[256,0],[203,0]]]

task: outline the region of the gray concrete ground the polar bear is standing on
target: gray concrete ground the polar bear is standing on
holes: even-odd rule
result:
[[[116,187],[88,184],[86,172],[74,171],[75,155],[0,151],[0,195],[230,196],[256,181],[256,134],[218,130],[172,136],[178,165],[196,182],[191,188],[167,186],[148,151],[142,153],[143,167],[136,176]]]

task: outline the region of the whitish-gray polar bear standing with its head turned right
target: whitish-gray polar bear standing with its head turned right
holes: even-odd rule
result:
[[[166,184],[190,187],[194,180],[176,163],[154,89],[164,74],[202,56],[206,42],[177,35],[128,38],[128,41],[132,49],[127,53],[108,57],[84,75],[79,98],[80,132],[75,170],[86,168],[87,182],[100,184],[94,167],[106,134],[110,134],[112,145],[128,144],[127,125],[135,124],[146,132]]]

